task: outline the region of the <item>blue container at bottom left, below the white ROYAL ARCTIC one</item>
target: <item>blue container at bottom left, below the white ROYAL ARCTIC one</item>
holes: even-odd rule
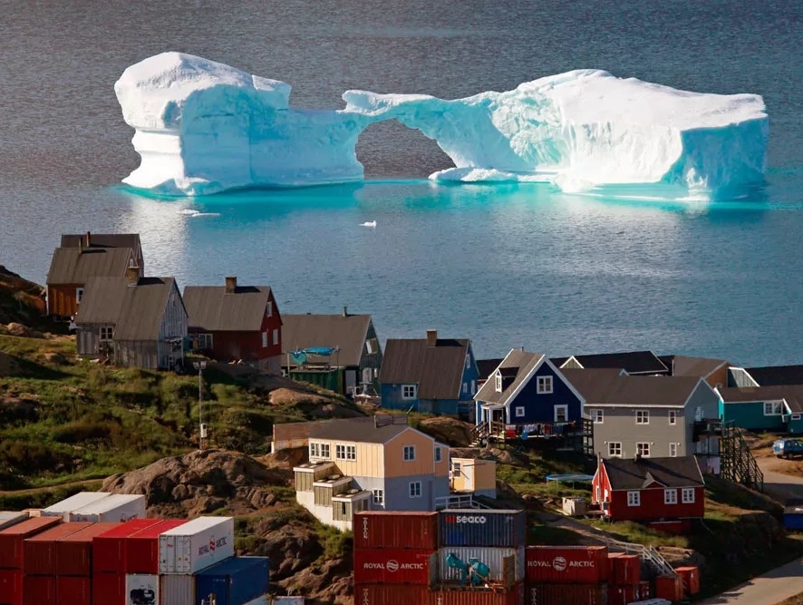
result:
[[[214,594],[217,605],[245,605],[267,594],[267,557],[232,557],[195,574],[195,600],[209,602]]]

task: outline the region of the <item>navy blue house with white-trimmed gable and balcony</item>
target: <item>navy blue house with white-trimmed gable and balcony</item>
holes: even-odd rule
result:
[[[515,348],[474,395],[477,424],[567,424],[583,417],[585,401],[540,353]]]

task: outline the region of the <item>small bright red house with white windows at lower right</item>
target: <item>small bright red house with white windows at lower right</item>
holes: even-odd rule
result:
[[[705,482],[694,456],[600,459],[592,502],[612,521],[653,522],[705,515]]]

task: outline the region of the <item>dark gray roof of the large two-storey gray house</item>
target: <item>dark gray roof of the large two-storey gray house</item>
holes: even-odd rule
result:
[[[591,406],[682,406],[701,381],[699,376],[620,376],[614,368],[561,372]]]

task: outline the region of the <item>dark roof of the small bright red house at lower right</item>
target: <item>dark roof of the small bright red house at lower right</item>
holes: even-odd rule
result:
[[[653,482],[665,487],[702,487],[694,456],[676,458],[607,458],[602,461],[612,490],[640,490]]]

